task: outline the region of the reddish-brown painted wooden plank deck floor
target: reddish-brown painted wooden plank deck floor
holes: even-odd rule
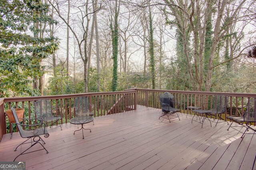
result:
[[[210,127],[180,113],[172,123],[158,117],[160,109],[138,106],[137,110],[96,117],[82,131],[70,123],[50,129],[44,138],[48,149],[19,156],[26,169],[34,170],[256,170],[256,135],[227,131],[226,123]],[[6,134],[0,143],[0,161],[12,161],[24,141],[18,133]],[[38,145],[39,146],[39,145]],[[25,147],[22,147],[25,149]],[[254,165],[254,167],[253,167]]]

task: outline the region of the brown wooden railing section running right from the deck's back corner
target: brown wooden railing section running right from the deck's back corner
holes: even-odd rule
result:
[[[174,96],[175,102],[179,103],[179,109],[182,113],[187,113],[187,106],[202,107],[203,103],[212,102],[215,94],[227,94],[228,108],[243,107],[247,104],[248,98],[256,97],[251,93],[224,93],[224,92],[195,92],[195,91],[178,91],[178,90],[152,90],[152,89],[129,89],[136,90],[138,97],[138,105],[154,107],[160,109],[159,96],[164,92],[170,92]],[[204,109],[210,109],[212,105],[204,104]],[[242,110],[243,113],[243,110]],[[238,115],[238,111],[236,112]],[[227,112],[224,119],[227,117]]]

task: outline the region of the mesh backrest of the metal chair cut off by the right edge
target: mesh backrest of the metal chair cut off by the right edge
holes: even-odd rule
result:
[[[256,122],[256,98],[249,98],[244,117],[247,120]]]

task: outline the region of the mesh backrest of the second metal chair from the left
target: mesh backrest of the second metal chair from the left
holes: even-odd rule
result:
[[[48,117],[52,117],[52,103],[50,99],[37,99],[33,101],[36,117],[41,117],[43,120],[47,120]]]

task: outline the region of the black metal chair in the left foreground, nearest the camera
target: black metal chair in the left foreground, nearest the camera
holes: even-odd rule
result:
[[[20,124],[20,121],[19,121],[19,119],[22,119],[22,118],[20,118],[20,117],[18,118],[18,115],[17,115],[16,110],[14,108],[12,108],[12,114],[13,114],[13,117],[16,121],[20,136],[22,138],[28,138],[26,141],[24,141],[20,145],[18,145],[18,147],[20,146],[20,154],[18,156],[20,156],[22,154],[28,154],[28,153],[31,153],[31,152],[35,152],[35,151],[38,151],[38,150],[46,150],[45,147],[44,147],[45,142],[40,137],[40,135],[44,135],[44,137],[49,137],[49,133],[45,128],[46,127],[45,124],[41,122],[41,123],[36,123],[36,124],[33,124],[33,125],[23,125],[23,124]],[[33,118],[33,119],[38,119],[38,120],[41,119],[40,121],[42,121],[42,118],[40,118],[40,117],[36,117],[36,118]],[[23,119],[23,120],[32,120],[32,119]],[[25,128],[30,127],[31,129],[23,130],[22,126],[25,126]],[[33,141],[32,141],[32,138],[33,138]],[[29,139],[31,139],[31,141],[27,142]],[[42,141],[42,143],[41,143],[41,141]],[[28,150],[28,149],[26,149],[22,152],[22,150],[21,150],[22,145],[27,144],[27,143],[30,143],[30,147],[28,149],[32,148],[36,144],[40,144],[43,148],[38,149],[38,150],[33,150],[31,152],[26,152]],[[18,149],[18,147],[16,147],[16,149],[14,151],[16,151]],[[46,150],[46,153],[48,153],[47,150]],[[18,158],[18,156],[16,156],[16,158]],[[15,161],[16,158],[13,161]]]

